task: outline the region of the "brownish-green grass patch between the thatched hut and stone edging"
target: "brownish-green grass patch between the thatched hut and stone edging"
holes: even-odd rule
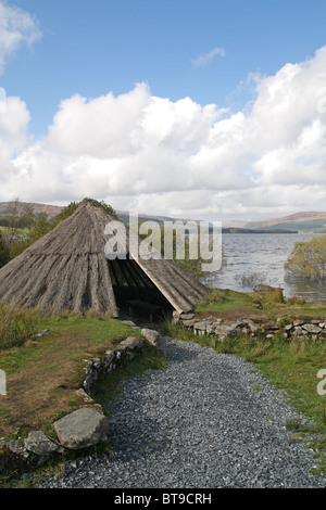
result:
[[[0,350],[0,369],[7,395],[0,396],[0,437],[24,437],[29,430],[51,433],[53,421],[83,405],[75,392],[82,387],[87,360],[101,357],[126,336],[140,336],[116,319],[39,317],[35,331],[48,335],[28,337]]]

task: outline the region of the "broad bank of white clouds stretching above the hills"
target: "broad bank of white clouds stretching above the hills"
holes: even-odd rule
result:
[[[37,141],[25,138],[26,105],[9,98],[0,200],[92,196],[118,209],[216,220],[325,209],[326,47],[254,82],[256,99],[234,113],[158,98],[145,84],[116,97],[73,95]]]

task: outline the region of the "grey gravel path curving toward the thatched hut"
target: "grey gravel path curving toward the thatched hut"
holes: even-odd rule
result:
[[[160,345],[168,367],[125,381],[111,407],[114,456],[74,460],[43,487],[326,487],[310,473],[313,452],[289,445],[285,424],[298,416],[260,372],[197,344]]]

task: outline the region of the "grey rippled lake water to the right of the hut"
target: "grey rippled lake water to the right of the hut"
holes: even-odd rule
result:
[[[285,297],[304,297],[306,302],[326,302],[326,282],[310,282],[287,276],[284,265],[296,242],[310,241],[321,234],[224,234],[224,264],[220,271],[208,273],[211,288],[251,292],[256,283],[280,286]],[[243,284],[243,276],[254,281]],[[247,282],[244,282],[247,283]]]

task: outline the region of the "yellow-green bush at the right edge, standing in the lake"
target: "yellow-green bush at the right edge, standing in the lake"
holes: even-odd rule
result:
[[[326,278],[326,235],[299,242],[288,258],[285,269],[304,278]]]

